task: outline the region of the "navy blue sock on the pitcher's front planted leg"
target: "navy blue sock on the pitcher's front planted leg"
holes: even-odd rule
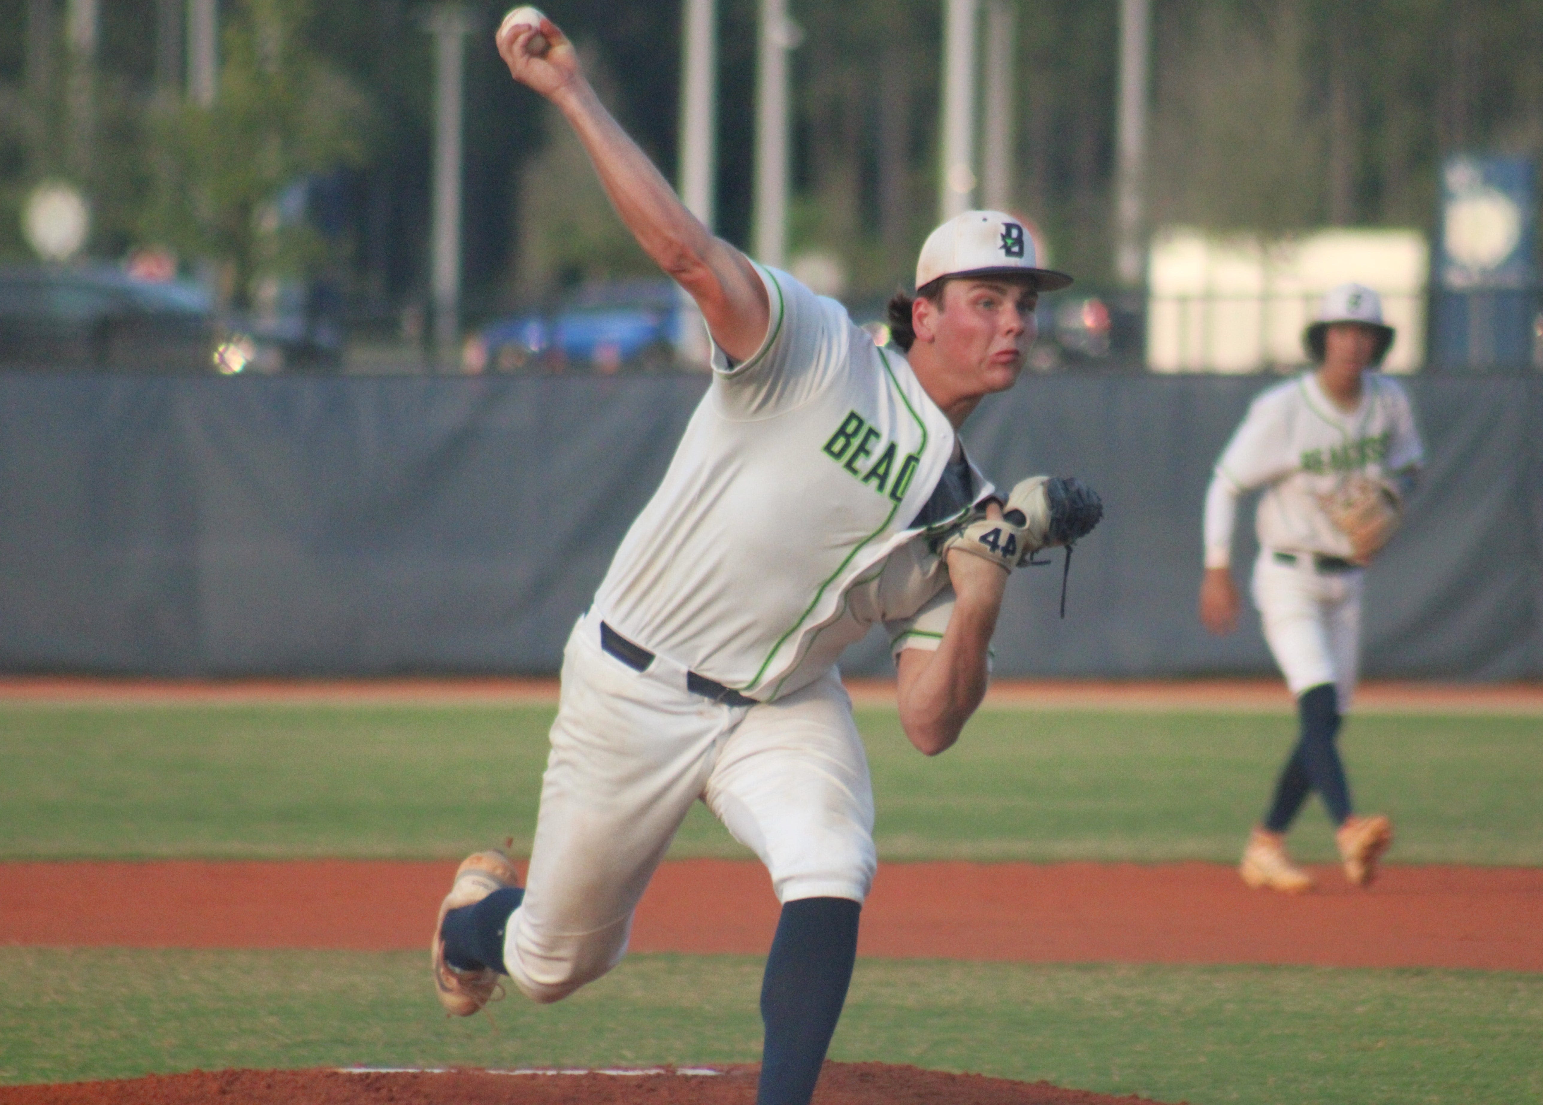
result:
[[[858,957],[858,915],[849,898],[782,906],[761,983],[765,1048],[756,1105],[809,1105],[847,1000]]]

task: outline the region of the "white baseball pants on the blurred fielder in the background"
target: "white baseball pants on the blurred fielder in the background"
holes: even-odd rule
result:
[[[1264,639],[1291,694],[1335,685],[1339,713],[1350,710],[1361,667],[1361,569],[1319,571],[1312,554],[1281,563],[1268,549],[1253,571],[1253,600]]]

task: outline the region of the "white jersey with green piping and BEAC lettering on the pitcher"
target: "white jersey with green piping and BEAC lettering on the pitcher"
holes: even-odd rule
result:
[[[713,383],[596,610],[643,648],[773,701],[878,620],[901,644],[935,647],[952,593],[909,526],[955,435],[906,358],[839,302],[758,272],[765,341],[736,366],[714,350]],[[974,477],[978,502],[991,486]]]

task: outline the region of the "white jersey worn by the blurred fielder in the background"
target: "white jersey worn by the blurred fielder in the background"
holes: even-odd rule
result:
[[[1265,549],[1349,557],[1350,539],[1321,497],[1350,475],[1389,477],[1424,460],[1409,397],[1393,380],[1362,377],[1361,403],[1341,411],[1315,372],[1271,387],[1248,407],[1205,497],[1205,566],[1231,562],[1236,498],[1265,488],[1258,534]]]

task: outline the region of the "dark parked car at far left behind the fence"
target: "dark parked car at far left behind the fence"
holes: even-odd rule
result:
[[[208,295],[110,265],[0,269],[0,367],[213,372]]]

